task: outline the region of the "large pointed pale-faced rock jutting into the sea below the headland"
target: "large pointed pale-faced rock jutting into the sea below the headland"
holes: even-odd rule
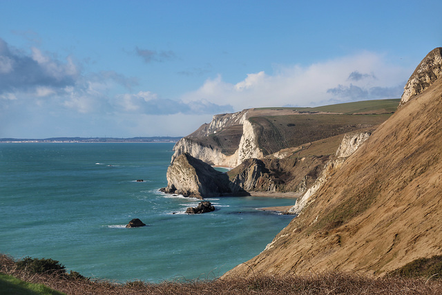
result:
[[[164,193],[177,193],[184,197],[204,197],[244,194],[241,187],[232,184],[226,173],[216,171],[209,164],[183,153],[167,169],[167,187]]]

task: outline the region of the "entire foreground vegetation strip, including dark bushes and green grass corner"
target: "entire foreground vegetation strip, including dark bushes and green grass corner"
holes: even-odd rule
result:
[[[56,269],[22,267],[55,266]],[[311,273],[309,275],[269,276],[215,280],[177,280],[162,283],[131,281],[115,283],[84,276],[66,275],[57,260],[25,258],[15,261],[0,255],[1,294],[441,294],[442,280],[427,272],[416,278],[393,276],[382,278],[345,272]],[[21,266],[19,266],[21,265]],[[28,263],[26,263],[29,266]],[[421,265],[421,263],[419,263]],[[418,267],[419,268],[419,267]],[[44,270],[45,269],[45,270]],[[64,269],[64,268],[63,268]],[[52,271],[54,270],[54,271]],[[440,270],[440,269],[439,269]],[[40,272],[41,271],[41,272]],[[57,291],[55,291],[57,290]],[[6,292],[6,293],[5,293]],[[60,293],[62,292],[62,293]]]

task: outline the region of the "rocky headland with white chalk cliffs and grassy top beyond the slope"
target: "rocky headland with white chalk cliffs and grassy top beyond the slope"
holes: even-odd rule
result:
[[[175,144],[162,191],[195,198],[246,192],[302,196],[325,169],[330,173],[329,167],[358,147],[359,140],[345,143],[346,134],[371,133],[397,106],[398,99],[387,99],[215,115]],[[332,164],[339,146],[347,155]],[[210,166],[232,169],[219,173]]]

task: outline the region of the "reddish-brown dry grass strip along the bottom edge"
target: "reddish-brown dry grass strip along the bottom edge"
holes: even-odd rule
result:
[[[15,261],[0,255],[0,272],[30,283],[43,283],[66,294],[442,294],[442,280],[425,278],[375,278],[331,272],[307,276],[254,276],[228,280],[186,280],[117,284],[72,279],[67,276],[30,274]]]

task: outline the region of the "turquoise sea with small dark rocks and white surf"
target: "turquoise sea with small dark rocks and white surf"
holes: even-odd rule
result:
[[[117,283],[214,279],[260,254],[293,216],[260,207],[294,199],[159,191],[173,143],[1,143],[0,253],[52,258]],[[137,182],[137,180],[143,180]],[[126,228],[133,218],[146,227]]]

